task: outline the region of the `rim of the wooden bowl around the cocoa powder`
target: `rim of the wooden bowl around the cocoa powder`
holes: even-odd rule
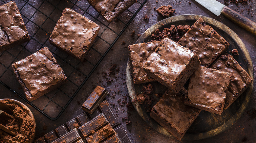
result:
[[[30,109],[23,103],[17,101],[17,100],[14,100],[14,99],[0,99],[1,100],[12,100],[14,101],[17,105],[19,105],[20,107],[22,107],[23,109],[25,109],[28,113],[29,113],[29,116],[33,119],[33,123],[34,123],[34,131],[35,131],[35,118],[32,114],[32,112],[30,111]],[[5,111],[6,113],[8,114],[12,114],[12,112],[10,111],[10,109],[8,109],[5,105],[3,104],[0,104],[0,109]],[[34,138],[35,138],[35,134],[32,136],[32,139],[30,140],[30,143],[32,143],[34,141]]]

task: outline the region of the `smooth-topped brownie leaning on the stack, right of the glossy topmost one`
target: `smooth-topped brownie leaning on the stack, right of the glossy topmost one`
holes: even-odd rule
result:
[[[231,75],[200,66],[190,78],[185,104],[221,115]]]

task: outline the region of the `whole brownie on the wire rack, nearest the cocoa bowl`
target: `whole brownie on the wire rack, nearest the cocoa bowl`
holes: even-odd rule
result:
[[[33,101],[61,86],[67,77],[48,48],[12,64],[24,94]]]

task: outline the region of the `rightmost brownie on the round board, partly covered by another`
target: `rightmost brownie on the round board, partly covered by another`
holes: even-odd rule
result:
[[[252,78],[229,54],[221,55],[211,68],[232,74],[224,104],[227,109],[249,87]]]

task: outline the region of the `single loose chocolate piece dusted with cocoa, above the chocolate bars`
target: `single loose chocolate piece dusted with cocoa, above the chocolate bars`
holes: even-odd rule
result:
[[[107,94],[109,94],[109,92],[105,88],[97,86],[83,103],[82,109],[92,114]]]

